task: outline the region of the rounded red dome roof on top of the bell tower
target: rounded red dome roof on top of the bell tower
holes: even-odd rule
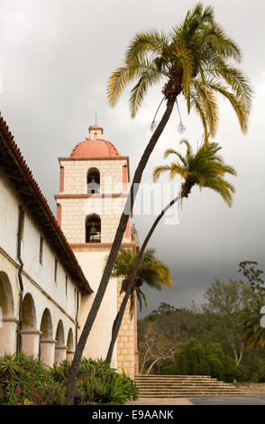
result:
[[[106,140],[85,140],[78,143],[72,150],[70,156],[75,158],[102,158],[121,156],[113,143]]]

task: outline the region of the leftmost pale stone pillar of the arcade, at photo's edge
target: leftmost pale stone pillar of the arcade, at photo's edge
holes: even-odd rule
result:
[[[0,322],[0,356],[15,353],[18,322],[16,318],[3,318]]]

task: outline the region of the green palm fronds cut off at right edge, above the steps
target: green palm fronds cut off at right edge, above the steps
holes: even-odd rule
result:
[[[249,349],[260,344],[265,346],[265,298],[260,295],[251,302],[250,309],[245,309],[242,315],[242,340]],[[262,322],[263,321],[263,322]],[[261,326],[261,324],[263,324]]]

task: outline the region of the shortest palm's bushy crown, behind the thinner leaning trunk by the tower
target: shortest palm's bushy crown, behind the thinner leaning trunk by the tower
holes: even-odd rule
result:
[[[155,253],[155,249],[150,248],[142,254],[142,258],[133,281],[133,288],[131,290],[131,317],[133,317],[135,294],[139,301],[140,310],[142,310],[142,301],[145,307],[147,307],[147,300],[144,292],[142,291],[142,284],[147,284],[149,287],[156,290],[161,290],[163,285],[173,285],[169,267],[165,263],[162,263],[156,257]],[[132,249],[124,249],[123,247],[120,248],[119,253],[117,254],[112,277],[123,277],[121,293],[127,290],[128,281],[131,278],[137,256],[138,253],[134,253]]]

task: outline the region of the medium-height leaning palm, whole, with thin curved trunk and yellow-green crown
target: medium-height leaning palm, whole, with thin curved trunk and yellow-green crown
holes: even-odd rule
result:
[[[127,302],[133,289],[133,281],[137,275],[137,269],[141,263],[142,255],[144,254],[145,248],[149,243],[151,235],[153,234],[156,226],[159,224],[160,219],[165,215],[169,207],[172,207],[179,199],[187,198],[191,189],[195,185],[198,185],[200,189],[213,189],[224,199],[224,202],[229,207],[232,207],[234,188],[230,182],[224,180],[224,174],[228,173],[231,175],[236,175],[236,171],[232,166],[224,163],[223,158],[217,154],[222,148],[217,143],[208,143],[207,147],[202,145],[196,152],[193,152],[192,147],[187,142],[187,140],[182,140],[180,143],[185,143],[187,146],[186,156],[176,152],[174,149],[168,149],[165,152],[165,158],[167,158],[169,154],[174,154],[177,156],[178,161],[173,161],[171,165],[158,166],[153,171],[153,180],[155,181],[160,178],[160,175],[163,172],[169,172],[169,177],[171,179],[176,175],[180,175],[184,181],[182,183],[180,194],[176,198],[173,198],[169,204],[163,208],[163,210],[160,212],[160,215],[155,219],[148,235],[145,237],[145,240],[142,243],[141,250],[136,258],[136,262],[131,273],[131,278],[129,281],[126,281],[127,289],[123,298],[123,302],[116,315],[116,318],[114,319],[112,339],[105,358],[106,362],[111,362],[116,337],[123,320],[123,314]]]

